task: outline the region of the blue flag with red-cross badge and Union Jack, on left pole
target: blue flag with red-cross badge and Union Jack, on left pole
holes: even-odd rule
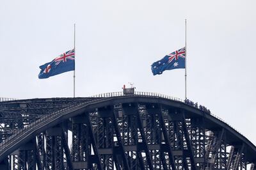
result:
[[[39,79],[47,79],[53,75],[75,70],[75,50],[68,50],[39,68],[41,69]]]

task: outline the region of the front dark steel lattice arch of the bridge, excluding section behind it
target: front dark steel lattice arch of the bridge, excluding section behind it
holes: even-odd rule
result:
[[[90,114],[92,116],[95,112],[97,114],[94,117],[97,121],[89,118]],[[79,120],[81,118],[85,120]],[[73,135],[72,142],[75,144],[76,140],[80,140],[79,144],[73,146],[71,151],[68,149],[66,139],[67,129],[70,127],[65,129],[66,132],[62,129],[58,135],[50,132],[51,129],[60,130],[60,126],[56,126],[68,120],[72,121],[72,130],[79,127],[80,131],[77,130],[77,134],[90,135],[89,145],[92,145],[91,152],[93,150],[94,153],[92,155],[87,151],[90,158],[76,160],[76,157],[81,155],[77,156],[74,152],[79,152],[76,149],[81,150],[81,147],[84,147],[81,143],[82,138],[87,140],[81,137],[82,135],[81,139],[74,139],[76,136]],[[86,128],[86,132],[81,128]],[[56,165],[60,160],[56,163],[56,159],[40,158],[39,138],[36,138],[36,142],[35,137],[47,130],[51,134],[49,136],[55,136],[54,140],[60,143],[61,146],[58,147],[61,147],[61,154],[65,152],[67,164],[63,164],[63,156],[61,166]],[[134,133],[136,137],[132,139]],[[117,141],[113,140],[114,134]],[[111,135],[112,139],[108,139],[108,135]],[[12,155],[31,141],[37,145],[33,148],[37,149],[33,152],[33,158],[36,160],[33,163],[25,162],[27,165],[23,166],[27,169],[28,164],[33,164],[31,169],[35,166],[38,169],[113,169],[113,162],[116,169],[246,169],[247,164],[255,162],[256,155],[256,147],[246,137],[212,114],[181,101],[143,95],[92,98],[42,116],[0,143],[0,162],[3,167],[8,167],[8,164],[11,166],[8,155]],[[227,146],[230,147],[230,151],[227,151]],[[52,144],[52,147],[56,146]],[[47,148],[43,150],[47,151]],[[114,153],[120,157],[115,157]],[[28,157],[28,153],[26,154]],[[132,154],[136,158],[132,158]],[[50,156],[52,157],[51,154]],[[19,165],[18,169],[22,169],[22,165]]]

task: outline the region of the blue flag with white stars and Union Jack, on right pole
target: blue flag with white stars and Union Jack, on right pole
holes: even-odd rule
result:
[[[185,47],[167,54],[164,58],[156,61],[151,65],[153,75],[161,74],[165,70],[173,70],[176,68],[185,68]]]

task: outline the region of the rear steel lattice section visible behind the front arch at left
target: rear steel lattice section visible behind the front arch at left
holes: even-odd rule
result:
[[[69,105],[77,105],[91,98],[45,98],[0,102],[0,143],[43,114],[50,114]]]

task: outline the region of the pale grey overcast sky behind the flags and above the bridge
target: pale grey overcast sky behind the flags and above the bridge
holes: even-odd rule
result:
[[[0,6],[0,97],[72,97],[72,72],[38,79],[38,66],[74,46],[76,96],[137,91],[184,99],[184,69],[150,65],[184,47],[188,98],[256,144],[256,1],[10,1]]]

